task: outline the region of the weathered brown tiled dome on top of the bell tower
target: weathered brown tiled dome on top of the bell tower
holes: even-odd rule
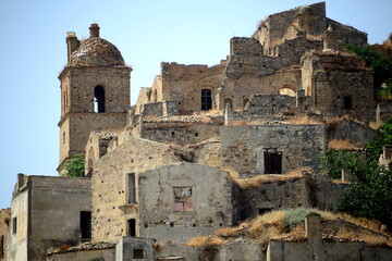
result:
[[[71,54],[73,66],[124,66],[119,49],[100,37],[82,40],[81,46]]]

